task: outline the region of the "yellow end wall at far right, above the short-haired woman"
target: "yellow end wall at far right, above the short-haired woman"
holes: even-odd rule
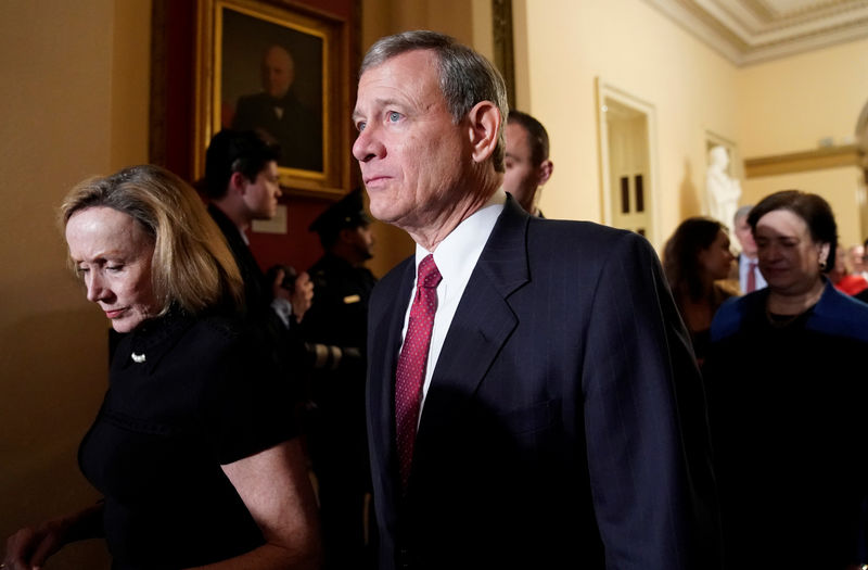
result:
[[[740,71],[736,81],[739,142],[744,157],[817,148],[830,137],[852,143],[856,119],[868,101],[868,40],[833,46]],[[856,166],[752,178],[742,185],[744,203],[776,190],[797,188],[826,198],[834,211],[841,243],[861,243],[857,197],[864,177]]]

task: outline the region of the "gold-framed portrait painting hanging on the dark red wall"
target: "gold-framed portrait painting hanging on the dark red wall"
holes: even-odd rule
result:
[[[301,4],[201,0],[196,175],[221,128],[278,142],[281,186],[341,195],[349,187],[346,23]]]

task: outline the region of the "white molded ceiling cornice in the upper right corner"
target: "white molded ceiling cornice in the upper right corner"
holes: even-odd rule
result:
[[[868,37],[868,0],[646,0],[736,65]]]

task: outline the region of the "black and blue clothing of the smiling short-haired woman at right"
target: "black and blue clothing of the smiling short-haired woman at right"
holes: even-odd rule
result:
[[[727,569],[866,562],[868,306],[831,286],[799,316],[725,303],[703,372]]]

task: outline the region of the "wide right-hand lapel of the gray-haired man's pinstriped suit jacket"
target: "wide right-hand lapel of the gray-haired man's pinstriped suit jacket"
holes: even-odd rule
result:
[[[416,453],[423,453],[426,432],[438,432],[471,401],[519,324],[508,297],[529,279],[525,246],[528,220],[529,216],[509,198],[446,335],[425,396]]]

